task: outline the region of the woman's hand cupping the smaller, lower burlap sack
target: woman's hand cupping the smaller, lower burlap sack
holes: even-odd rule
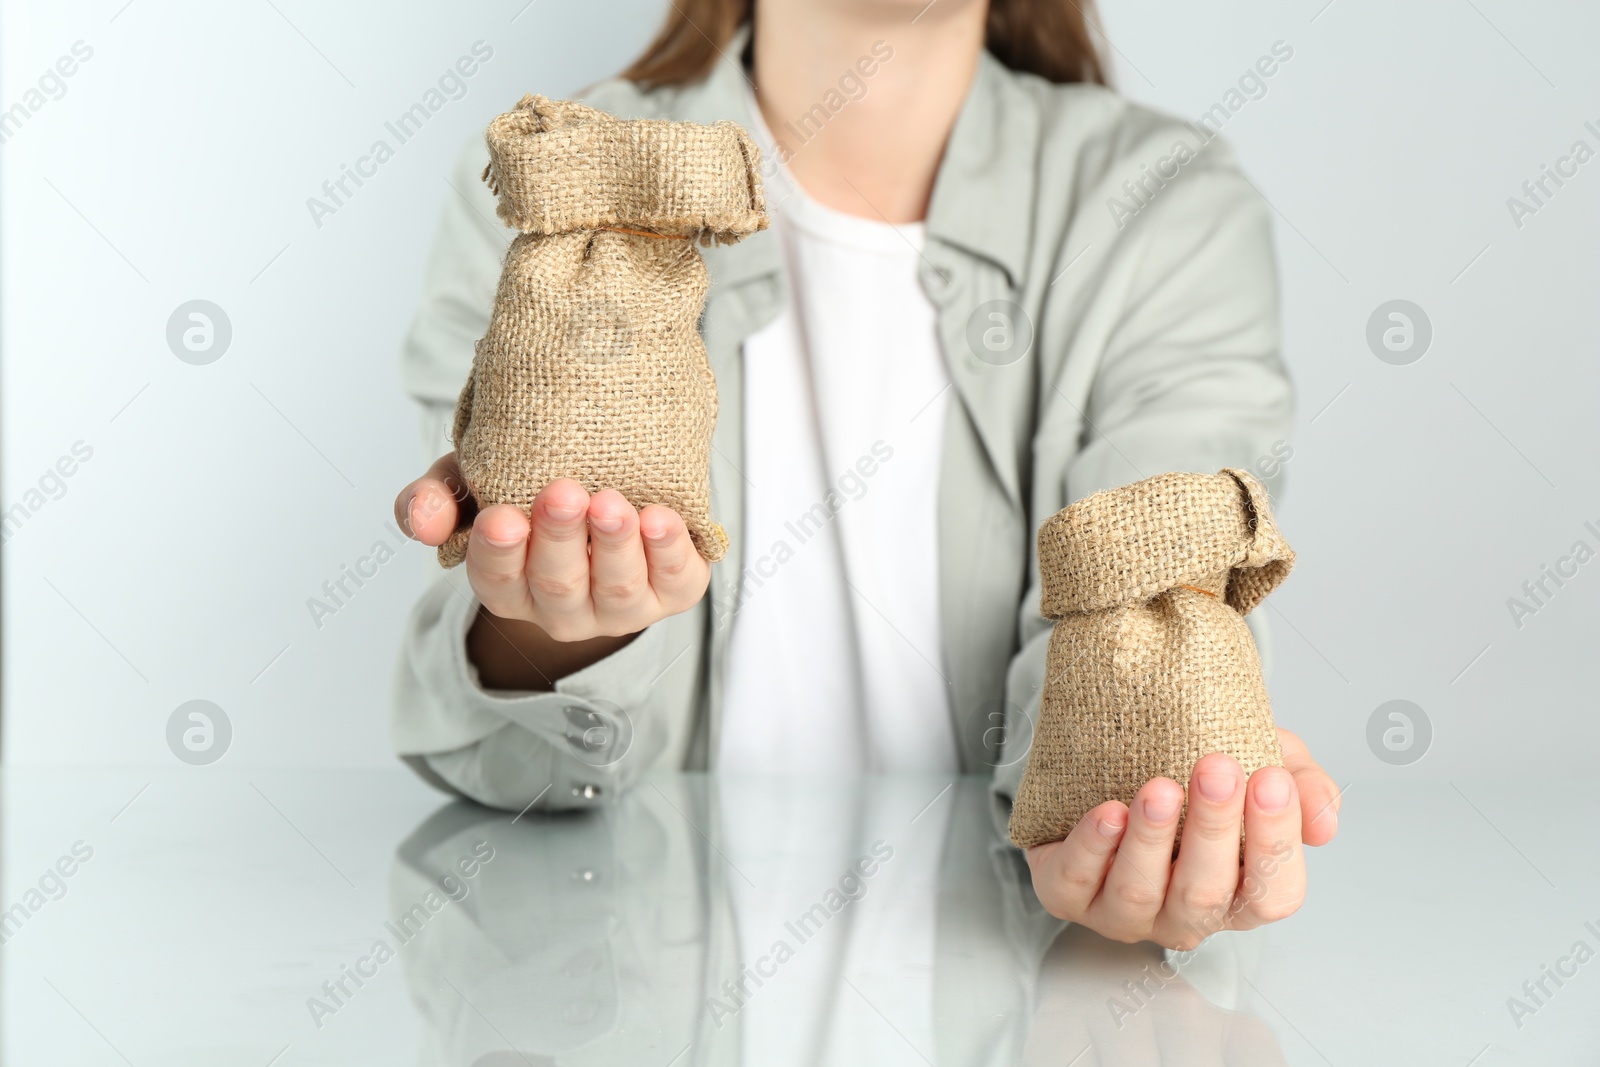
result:
[[[1298,736],[1278,729],[1278,741],[1283,766],[1248,782],[1232,757],[1195,763],[1176,861],[1184,789],[1170,777],[1146,782],[1133,805],[1091,809],[1067,840],[1027,849],[1040,902],[1112,941],[1179,950],[1293,915],[1306,899],[1302,845],[1338,833],[1339,789]]]

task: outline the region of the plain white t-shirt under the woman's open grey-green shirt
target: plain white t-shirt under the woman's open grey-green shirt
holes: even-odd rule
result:
[[[917,278],[923,226],[826,208],[782,168],[766,190],[790,299],[744,342],[746,560],[717,765],[954,771],[936,550],[950,379]]]

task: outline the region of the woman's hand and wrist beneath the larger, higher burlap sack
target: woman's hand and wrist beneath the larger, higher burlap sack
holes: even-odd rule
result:
[[[454,453],[442,456],[395,498],[395,522],[416,541],[438,545],[458,522],[472,520],[467,581],[493,617],[480,613],[474,630],[483,633],[469,635],[469,651],[475,645],[483,653],[474,661],[491,688],[549,688],[550,678],[688,611],[710,582],[710,563],[669,507],[635,510],[616,490],[589,496],[578,482],[558,478],[534,498],[531,520],[510,504],[474,515],[462,486]],[[526,677],[526,667],[538,678]],[[493,675],[512,685],[494,685]]]

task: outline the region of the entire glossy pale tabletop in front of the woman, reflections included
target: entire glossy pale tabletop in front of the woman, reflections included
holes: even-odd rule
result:
[[[1600,1064],[1594,782],[1357,781],[1306,907],[1181,963],[1045,915],[979,779],[0,787],[5,1064]]]

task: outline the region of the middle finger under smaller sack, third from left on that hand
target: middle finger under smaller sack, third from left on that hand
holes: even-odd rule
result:
[[[1194,949],[1227,928],[1238,888],[1238,837],[1245,817],[1245,771],[1213,753],[1189,777],[1184,837],[1155,931],[1168,949]]]

